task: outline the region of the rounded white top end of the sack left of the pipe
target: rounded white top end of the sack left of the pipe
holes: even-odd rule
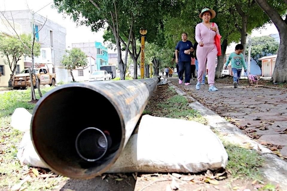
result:
[[[32,114],[23,107],[16,108],[11,116],[11,126],[22,132],[30,131]]]

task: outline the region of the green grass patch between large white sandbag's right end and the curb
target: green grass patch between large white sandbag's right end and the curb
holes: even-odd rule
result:
[[[223,144],[228,154],[226,169],[233,177],[262,180],[259,168],[264,164],[264,158],[261,155],[255,150],[244,149],[226,142]]]

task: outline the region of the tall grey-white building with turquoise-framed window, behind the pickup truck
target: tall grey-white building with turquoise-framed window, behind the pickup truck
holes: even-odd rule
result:
[[[22,32],[32,34],[32,22],[36,32],[36,41],[41,44],[40,56],[34,58],[34,63],[53,63],[56,81],[68,81],[68,73],[62,66],[62,56],[66,53],[66,29],[54,21],[30,10],[5,11],[6,18],[21,24]],[[46,22],[45,22],[46,21]],[[32,64],[31,58],[24,61],[25,67]]]

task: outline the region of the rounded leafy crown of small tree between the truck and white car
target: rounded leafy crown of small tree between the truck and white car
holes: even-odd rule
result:
[[[65,69],[70,71],[78,67],[86,67],[88,62],[86,54],[80,48],[72,48],[71,50],[66,50],[68,55],[64,55],[62,58],[62,64]]]

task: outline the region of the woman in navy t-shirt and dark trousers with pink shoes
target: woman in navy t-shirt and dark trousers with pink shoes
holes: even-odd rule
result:
[[[178,83],[182,84],[185,72],[185,85],[190,85],[190,57],[193,53],[193,44],[187,40],[187,33],[181,34],[181,41],[175,47],[175,62],[178,63]]]

